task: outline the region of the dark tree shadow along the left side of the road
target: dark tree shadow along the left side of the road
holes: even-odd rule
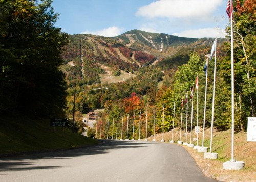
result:
[[[20,171],[35,169],[54,169],[61,166],[35,166],[33,161],[45,159],[72,159],[84,155],[97,155],[109,153],[111,150],[124,148],[147,147],[151,143],[135,142],[135,141],[118,141],[118,140],[100,140],[102,143],[90,147],[82,147],[75,149],[66,149],[53,152],[39,152],[33,154],[16,155],[12,157],[0,158],[0,172],[3,171]],[[27,162],[29,161],[29,162]],[[0,174],[1,175],[1,174]]]

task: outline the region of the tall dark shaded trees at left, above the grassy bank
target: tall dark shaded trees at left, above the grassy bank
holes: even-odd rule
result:
[[[66,108],[58,66],[67,34],[54,27],[51,3],[0,1],[0,112],[57,116]]]

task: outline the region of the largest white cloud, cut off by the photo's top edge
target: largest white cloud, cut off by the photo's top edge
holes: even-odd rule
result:
[[[159,0],[139,8],[137,16],[148,18],[205,18],[222,5],[223,0]]]

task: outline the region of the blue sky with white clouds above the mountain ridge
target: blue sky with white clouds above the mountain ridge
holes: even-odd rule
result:
[[[53,0],[55,27],[68,34],[121,35],[133,29],[179,37],[225,37],[227,0]]]

